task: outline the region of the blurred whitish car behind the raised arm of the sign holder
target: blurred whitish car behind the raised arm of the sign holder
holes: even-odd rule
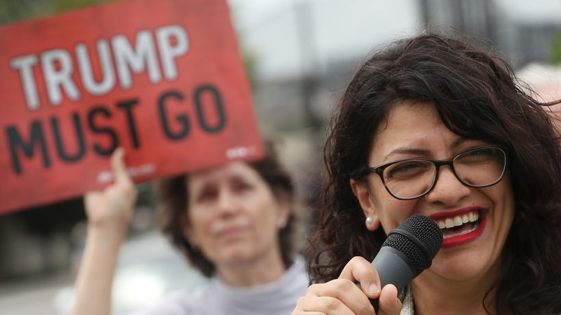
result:
[[[127,314],[155,303],[169,292],[190,292],[204,288],[208,282],[162,234],[149,231],[121,247],[113,282],[112,314]],[[59,314],[68,314],[73,296],[72,286],[58,290],[53,305]]]

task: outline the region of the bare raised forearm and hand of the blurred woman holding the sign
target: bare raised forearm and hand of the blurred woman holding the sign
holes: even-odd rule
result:
[[[127,236],[136,202],[136,187],[124,162],[123,149],[111,157],[114,184],[84,197],[88,231],[75,283],[72,315],[109,315],[111,288],[119,248]]]

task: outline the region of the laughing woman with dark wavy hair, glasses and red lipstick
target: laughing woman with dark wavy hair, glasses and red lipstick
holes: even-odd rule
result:
[[[467,40],[427,32],[358,70],[335,110],[297,314],[561,314],[561,151],[545,103]],[[444,240],[403,290],[371,261],[421,214]],[[360,283],[357,286],[356,283]]]

